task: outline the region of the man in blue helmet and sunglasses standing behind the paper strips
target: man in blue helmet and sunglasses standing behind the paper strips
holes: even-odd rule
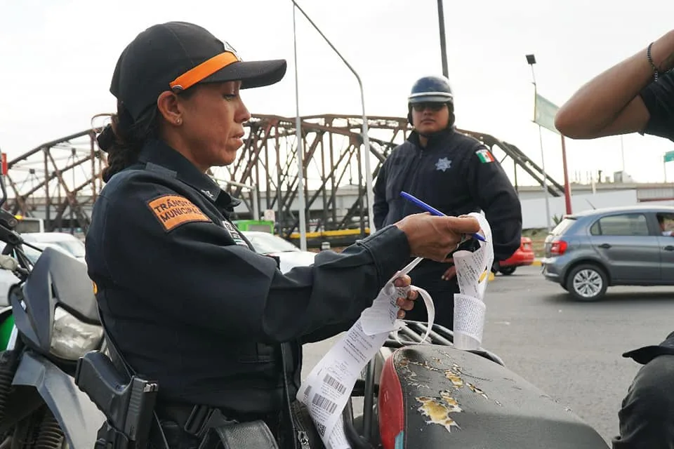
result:
[[[423,210],[400,196],[408,192],[447,215],[484,211],[492,229],[494,260],[505,260],[520,247],[522,208],[501,164],[479,140],[454,125],[454,95],[444,76],[424,76],[411,88],[409,138],[392,150],[374,185],[377,229]],[[454,321],[456,271],[451,264],[423,260],[411,272],[416,286],[435,302],[435,322],[449,329]],[[424,321],[423,304],[407,319]]]

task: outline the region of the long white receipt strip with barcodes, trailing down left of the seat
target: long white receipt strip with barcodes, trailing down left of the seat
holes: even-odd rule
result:
[[[486,223],[482,215],[474,215],[481,225]],[[490,236],[485,237],[489,239]],[[484,246],[483,242],[480,243]],[[487,246],[491,246],[491,243]],[[477,253],[482,253],[482,250],[484,248],[480,248]],[[419,262],[421,258],[415,259],[386,283],[371,307],[362,312],[352,328],[317,363],[298,391],[297,399],[308,407],[327,449],[351,448],[344,434],[342,411],[363,368],[383,346],[389,333],[404,326],[397,319],[399,307],[396,301],[398,297],[407,296],[410,289],[418,291],[428,310],[428,329],[423,341],[430,333],[435,321],[435,306],[430,295],[415,286],[393,286],[396,278],[409,273]],[[457,267],[457,271],[463,271],[463,268]]]

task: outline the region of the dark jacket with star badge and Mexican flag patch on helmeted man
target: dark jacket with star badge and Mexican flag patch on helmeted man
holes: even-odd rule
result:
[[[495,260],[507,259],[520,247],[522,207],[517,192],[489,149],[468,135],[448,130],[421,147],[413,131],[393,149],[374,187],[374,224],[378,229],[424,212],[402,198],[401,191],[446,215],[484,210],[493,234]],[[437,266],[433,276],[447,269],[446,264],[423,263]]]

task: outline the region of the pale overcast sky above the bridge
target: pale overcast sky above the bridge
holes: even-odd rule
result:
[[[404,116],[419,76],[442,73],[433,0],[298,0],[364,82],[368,115]],[[592,76],[674,28],[674,2],[445,1],[449,78],[457,125],[513,142],[540,163],[524,58],[535,53],[538,92],[557,105]],[[295,114],[290,0],[0,0],[0,148],[10,159],[112,112],[119,53],[158,22],[186,20],[228,41],[245,60],[286,58],[276,86],[244,91],[258,114]],[[355,78],[298,14],[301,114],[360,114]],[[543,130],[546,168],[562,181],[560,139]],[[624,138],[635,180],[663,180],[666,140]],[[621,170],[619,138],[567,140],[569,170]],[[674,164],[672,164],[674,165]],[[510,164],[509,164],[510,166]],[[583,174],[584,176],[584,174]],[[668,180],[674,180],[670,167]]]

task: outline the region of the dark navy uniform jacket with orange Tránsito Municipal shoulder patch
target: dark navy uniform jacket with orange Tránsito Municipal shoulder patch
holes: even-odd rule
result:
[[[388,227],[282,274],[228,220],[237,201],[171,147],[148,143],[114,175],[86,237],[101,314],[164,401],[267,413],[296,394],[301,342],[348,329],[409,259]]]

